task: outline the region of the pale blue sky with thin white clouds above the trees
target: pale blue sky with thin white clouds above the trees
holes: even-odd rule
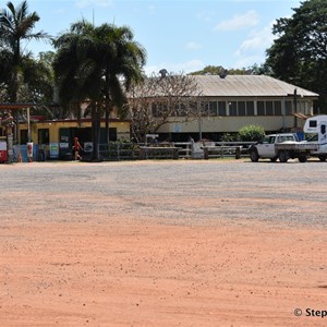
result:
[[[11,0],[14,5],[21,1]],[[53,37],[82,19],[129,26],[146,50],[147,74],[166,69],[190,73],[206,65],[250,68],[265,62],[272,45],[272,24],[290,17],[304,0],[27,0],[28,12],[40,16],[35,32]],[[0,9],[7,1],[0,1]],[[53,50],[44,41],[29,43],[34,55]]]

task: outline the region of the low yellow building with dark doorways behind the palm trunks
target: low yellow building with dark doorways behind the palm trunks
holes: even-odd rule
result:
[[[9,155],[20,152],[27,160],[27,143],[33,143],[33,157],[41,153],[44,159],[68,159],[72,156],[73,138],[77,136],[83,146],[92,150],[92,120],[90,119],[62,119],[44,120],[29,114],[34,104],[0,104],[0,110],[8,113],[8,118],[0,121],[0,138],[8,143]],[[14,124],[11,111],[26,111],[26,122]],[[7,122],[8,121],[8,122]],[[100,143],[105,143],[106,120],[100,122]],[[14,145],[13,134],[16,133]],[[109,119],[110,141],[130,141],[130,121],[117,118]]]

